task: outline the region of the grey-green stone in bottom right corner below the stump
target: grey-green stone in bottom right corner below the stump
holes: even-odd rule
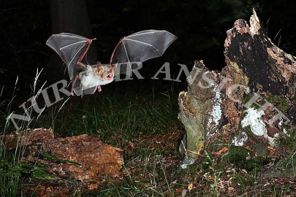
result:
[[[288,155],[280,159],[269,169],[262,172],[262,178],[294,178],[296,176],[296,157],[294,155]]]

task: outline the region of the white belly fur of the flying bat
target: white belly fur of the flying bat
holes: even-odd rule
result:
[[[94,86],[106,85],[106,84],[109,84],[113,81],[113,79],[112,80],[105,80],[105,79],[98,77],[98,75],[96,75],[94,71],[91,73],[88,73],[88,74],[85,74],[85,73],[82,74],[82,76],[79,77],[79,80],[84,87],[88,87],[88,88],[91,88]]]

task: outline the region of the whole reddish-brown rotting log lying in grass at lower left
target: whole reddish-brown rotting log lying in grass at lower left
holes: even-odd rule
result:
[[[21,145],[25,153],[22,162],[42,165],[52,177],[24,186],[39,196],[69,196],[78,189],[96,189],[106,178],[118,177],[124,164],[121,149],[87,134],[54,138],[51,129],[35,129],[1,138],[9,150]]]

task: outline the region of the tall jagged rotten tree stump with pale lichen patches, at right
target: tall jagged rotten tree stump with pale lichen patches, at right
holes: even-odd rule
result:
[[[255,10],[250,25],[235,21],[224,46],[222,71],[208,71],[196,61],[187,78],[188,91],[179,95],[179,118],[186,130],[185,146],[180,146],[186,152],[183,167],[203,150],[217,151],[223,145],[252,147],[262,142],[277,147],[281,138],[289,137],[287,128],[289,132],[296,128],[296,58],[271,42]],[[206,72],[211,81],[202,77]],[[254,93],[261,98],[251,99]],[[272,105],[252,105],[252,101],[263,105],[264,99]],[[271,124],[279,114],[276,110],[282,117]]]

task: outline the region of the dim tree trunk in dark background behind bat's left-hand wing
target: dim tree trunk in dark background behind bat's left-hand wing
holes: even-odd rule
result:
[[[85,0],[50,0],[52,33],[74,33],[94,38]],[[89,64],[97,61],[96,45],[92,44],[87,55]],[[65,66],[57,54],[53,54],[46,66],[48,79],[61,79]]]

